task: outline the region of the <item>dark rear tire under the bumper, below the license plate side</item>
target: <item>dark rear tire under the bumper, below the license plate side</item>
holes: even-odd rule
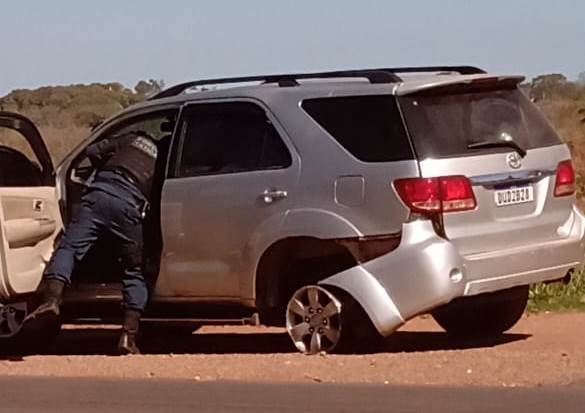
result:
[[[432,312],[447,333],[458,337],[489,338],[512,328],[522,317],[529,286],[474,297],[457,298]]]

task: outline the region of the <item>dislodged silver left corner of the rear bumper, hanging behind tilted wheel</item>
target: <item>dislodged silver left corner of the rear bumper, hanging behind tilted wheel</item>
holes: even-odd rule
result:
[[[403,225],[398,248],[319,284],[349,293],[383,336],[406,320],[463,294],[463,258],[428,220]]]

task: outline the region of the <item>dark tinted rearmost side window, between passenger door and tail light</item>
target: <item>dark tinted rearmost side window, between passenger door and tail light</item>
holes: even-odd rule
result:
[[[413,159],[393,96],[309,99],[303,109],[353,156],[365,162]]]

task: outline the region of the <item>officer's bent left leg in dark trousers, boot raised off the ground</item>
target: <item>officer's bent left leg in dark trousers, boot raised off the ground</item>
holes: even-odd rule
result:
[[[102,194],[100,191],[92,191],[83,196],[78,215],[66,228],[43,272],[41,304],[26,317],[25,321],[42,314],[59,315],[63,289],[71,282],[75,263],[85,256],[103,228],[104,222],[99,205]]]

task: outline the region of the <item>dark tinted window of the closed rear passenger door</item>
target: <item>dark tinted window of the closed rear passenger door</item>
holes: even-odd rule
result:
[[[286,168],[291,156],[259,106],[249,102],[194,105],[182,125],[179,175]]]

